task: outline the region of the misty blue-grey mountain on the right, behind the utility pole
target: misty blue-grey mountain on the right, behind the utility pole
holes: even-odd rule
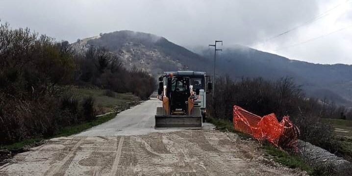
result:
[[[195,51],[208,60],[213,59],[212,49]],[[217,68],[234,79],[263,77],[275,80],[292,77],[309,95],[327,98],[337,104],[352,106],[352,66],[344,64],[322,65],[290,60],[249,47],[237,45],[226,48],[217,57]]]

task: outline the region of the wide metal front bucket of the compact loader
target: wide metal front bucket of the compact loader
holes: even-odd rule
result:
[[[155,129],[201,129],[201,118],[199,107],[195,107],[190,115],[167,115],[163,107],[157,107]]]

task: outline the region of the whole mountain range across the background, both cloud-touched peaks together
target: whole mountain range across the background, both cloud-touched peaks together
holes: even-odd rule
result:
[[[90,46],[106,48],[117,54],[126,68],[136,66],[155,77],[163,71],[185,67],[210,74],[213,71],[212,49],[197,49],[196,54],[163,37],[143,32],[116,31],[78,40],[72,46],[77,53],[83,53]],[[219,53],[216,67],[217,75],[228,74],[233,79],[292,77],[310,96],[352,106],[350,65],[312,64],[237,45]]]

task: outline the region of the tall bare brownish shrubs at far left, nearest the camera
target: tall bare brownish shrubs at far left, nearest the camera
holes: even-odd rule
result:
[[[75,69],[67,46],[0,24],[0,145],[50,136],[74,121],[74,101],[60,108]]]

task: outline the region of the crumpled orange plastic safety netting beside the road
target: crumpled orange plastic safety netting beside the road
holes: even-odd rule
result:
[[[233,106],[233,127],[237,131],[251,134],[259,141],[267,140],[280,149],[297,150],[299,130],[289,116],[284,116],[278,122],[274,113],[260,117]]]

